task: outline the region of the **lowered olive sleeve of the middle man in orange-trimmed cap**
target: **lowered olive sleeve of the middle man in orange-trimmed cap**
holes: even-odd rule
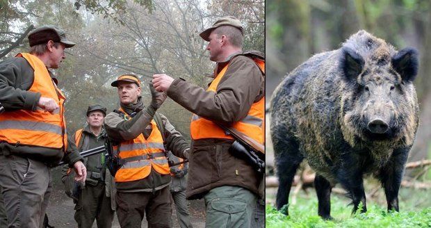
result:
[[[163,125],[165,127],[165,146],[166,149],[170,150],[172,154],[180,158],[188,159],[188,153],[190,151],[190,145],[184,137],[170,124],[169,120],[165,115],[160,114]]]

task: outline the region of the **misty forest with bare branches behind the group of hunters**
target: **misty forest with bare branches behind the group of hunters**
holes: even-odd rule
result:
[[[67,129],[86,124],[86,109],[119,107],[117,76],[136,74],[149,104],[152,75],[166,73],[200,86],[211,81],[214,63],[199,33],[226,15],[245,28],[243,49],[264,51],[264,1],[227,0],[0,0],[0,60],[28,51],[29,31],[54,24],[76,46],[54,74],[65,92]],[[191,113],[168,99],[159,110],[186,138]]]

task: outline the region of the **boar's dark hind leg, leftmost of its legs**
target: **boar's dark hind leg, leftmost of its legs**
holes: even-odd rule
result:
[[[294,140],[277,140],[274,143],[275,164],[279,186],[277,190],[277,209],[288,204],[288,195],[291,191],[293,177],[301,161],[304,159],[298,150],[298,143]],[[283,211],[288,215],[288,211]]]

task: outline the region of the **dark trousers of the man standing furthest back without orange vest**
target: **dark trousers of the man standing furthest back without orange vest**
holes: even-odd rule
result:
[[[111,228],[114,213],[104,182],[99,181],[96,186],[86,183],[75,205],[74,218],[78,227],[91,228],[96,220],[98,228]]]

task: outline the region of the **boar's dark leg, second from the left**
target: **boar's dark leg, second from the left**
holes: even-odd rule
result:
[[[318,198],[318,215],[323,219],[330,220],[331,217],[331,190],[330,181],[325,177],[316,174],[314,178],[314,188],[316,188]]]

